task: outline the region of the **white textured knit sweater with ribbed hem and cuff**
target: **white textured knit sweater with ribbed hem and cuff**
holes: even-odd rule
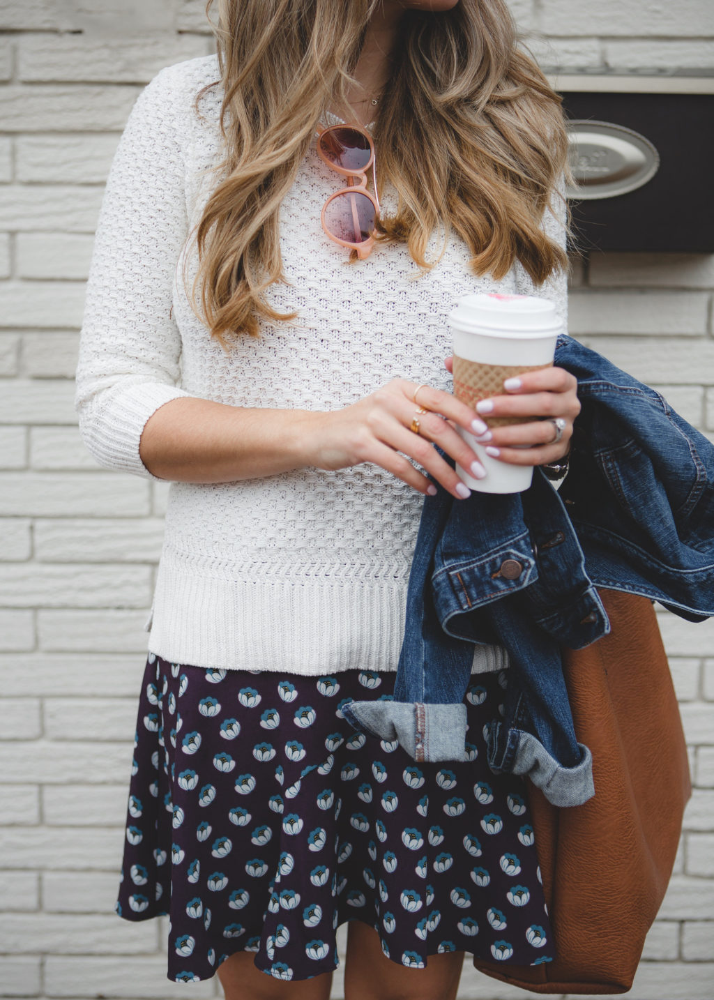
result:
[[[263,323],[259,339],[225,353],[180,278],[182,245],[211,188],[202,171],[221,156],[220,84],[201,99],[203,118],[192,110],[215,80],[215,56],[162,70],[139,95],[112,163],[77,370],[80,430],[100,465],[154,478],[139,457],[141,432],[178,396],[326,411],[395,377],[449,389],[446,315],[469,292],[547,296],[565,324],[564,279],[534,290],[519,266],[500,282],[476,278],[456,237],[421,277],[401,245],[347,265],[320,225],[340,179],[313,145],[281,210],[288,284],[268,296],[299,318]],[[388,212],[394,192],[381,195]],[[544,225],[562,239],[554,216]],[[190,288],[193,254],[187,273]],[[225,669],[395,670],[421,505],[419,493],[371,464],[172,483],[149,649]],[[495,650],[490,665],[499,665]]]

